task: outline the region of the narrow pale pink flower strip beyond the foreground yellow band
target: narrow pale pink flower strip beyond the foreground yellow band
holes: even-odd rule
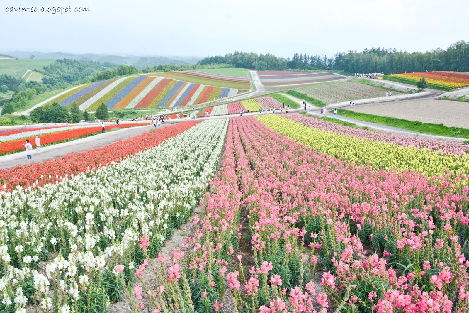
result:
[[[441,154],[453,153],[461,155],[469,152],[469,145],[464,145],[458,142],[430,140],[422,137],[400,136],[372,130],[357,129],[350,126],[327,122],[318,118],[307,117],[301,114],[291,114],[288,116],[286,115],[285,117],[306,126],[320,130],[333,131],[350,137],[375,140],[405,147],[427,148],[431,151],[438,151]]]

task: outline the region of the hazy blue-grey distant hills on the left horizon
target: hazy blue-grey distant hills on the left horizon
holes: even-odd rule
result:
[[[144,69],[160,64],[183,65],[195,64],[200,59],[198,57],[180,57],[180,56],[136,56],[136,55],[111,55],[97,53],[64,53],[64,52],[40,52],[40,51],[8,51],[13,58],[27,59],[34,55],[35,59],[73,59],[79,61],[98,61],[101,63],[109,62],[116,64],[134,65],[137,69]]]

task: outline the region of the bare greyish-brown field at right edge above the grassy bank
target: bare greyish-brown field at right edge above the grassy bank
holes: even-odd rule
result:
[[[450,100],[414,100],[350,108],[351,111],[410,121],[469,128],[469,106]]]

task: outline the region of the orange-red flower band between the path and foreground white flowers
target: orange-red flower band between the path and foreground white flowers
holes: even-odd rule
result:
[[[198,123],[199,121],[181,122],[97,149],[70,153],[64,157],[42,163],[0,169],[0,190],[4,189],[2,184],[6,185],[6,190],[12,190],[16,185],[24,188],[42,186],[46,183],[60,181],[65,175],[77,175],[89,169],[101,168],[110,163],[119,163],[131,155],[148,150],[166,139],[181,134]]]

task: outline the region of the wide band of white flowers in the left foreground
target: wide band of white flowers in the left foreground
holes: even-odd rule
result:
[[[44,309],[53,303],[49,286],[54,301],[76,302],[103,271],[132,266],[140,237],[163,243],[171,222],[185,220],[203,196],[227,127],[228,119],[205,121],[118,164],[29,192],[0,192],[0,301],[17,297],[23,307],[21,285],[34,281]],[[56,256],[45,277],[36,267],[48,253]]]

